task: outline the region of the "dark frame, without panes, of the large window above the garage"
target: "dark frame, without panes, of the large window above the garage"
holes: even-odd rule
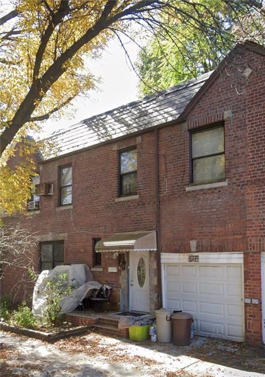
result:
[[[192,137],[194,134],[197,134],[197,133],[200,133],[200,132],[204,132],[204,131],[208,131],[208,130],[213,130],[215,128],[221,128],[223,129],[223,140],[224,140],[224,144],[223,144],[223,152],[218,152],[218,153],[213,153],[211,155],[204,155],[204,156],[199,156],[199,157],[194,157],[193,158],[193,144],[192,144]],[[224,155],[225,156],[225,129],[224,129],[224,122],[218,122],[218,123],[213,123],[213,124],[209,124],[207,126],[203,126],[203,127],[199,127],[199,128],[195,128],[193,130],[190,130],[189,131],[189,161],[190,161],[190,184],[193,184],[194,183],[194,180],[193,180],[193,161],[194,160],[199,160],[199,159],[203,159],[203,158],[206,158],[206,157],[212,157],[212,156],[219,156],[219,155]],[[222,179],[217,179],[217,180],[212,180],[211,182],[220,182],[220,181],[224,181],[225,180],[225,164],[224,164],[224,178]],[[200,181],[200,182],[195,182],[194,184],[196,185],[203,185],[203,184],[207,184],[207,183],[210,183],[209,181]]]

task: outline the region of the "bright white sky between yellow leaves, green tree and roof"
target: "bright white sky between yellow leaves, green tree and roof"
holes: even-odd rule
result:
[[[123,42],[124,43],[124,42]],[[126,44],[126,50],[132,62],[137,59],[138,47],[133,42]],[[117,39],[112,40],[101,59],[88,62],[91,72],[101,77],[100,91],[90,91],[90,98],[78,98],[73,101],[76,112],[69,118],[60,120],[48,120],[44,123],[43,134],[45,137],[61,128],[78,123],[82,119],[116,108],[128,102],[135,101],[137,97],[138,77],[126,62],[124,50]]]

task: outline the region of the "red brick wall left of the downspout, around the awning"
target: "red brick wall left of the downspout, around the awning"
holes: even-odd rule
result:
[[[153,133],[142,136],[141,143],[128,138],[120,146],[137,143],[138,199],[116,201],[118,197],[118,151],[114,144],[77,153],[40,165],[40,181],[53,183],[52,196],[41,197],[40,211],[29,213],[23,220],[26,229],[39,230],[40,241],[64,240],[65,263],[93,266],[92,238],[110,234],[145,230],[156,225],[155,169]],[[117,149],[117,148],[116,148]],[[59,207],[59,167],[72,163],[72,206]],[[16,221],[15,218],[13,221]],[[93,271],[95,280],[120,288],[120,270],[112,253],[102,253],[103,271]],[[37,265],[36,265],[37,268]],[[8,292],[13,279],[5,281]]]

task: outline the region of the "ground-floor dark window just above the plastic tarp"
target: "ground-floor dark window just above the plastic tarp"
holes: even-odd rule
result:
[[[64,242],[42,242],[41,243],[41,271],[54,269],[64,264]]]

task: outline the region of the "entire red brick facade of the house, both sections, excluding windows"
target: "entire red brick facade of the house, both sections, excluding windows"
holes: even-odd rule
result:
[[[265,58],[249,52],[234,56],[190,112],[187,123],[159,130],[161,251],[244,252],[245,297],[261,301],[260,252],[265,243]],[[252,73],[246,77],[245,68]],[[228,185],[186,191],[189,186],[189,130],[224,121],[225,177]],[[128,138],[118,147],[133,145]],[[155,213],[154,133],[138,140],[138,199],[117,202],[118,152],[102,145],[41,165],[41,182],[54,184],[40,213],[25,226],[42,240],[65,240],[65,262],[92,266],[92,238],[152,228]],[[58,207],[58,168],[72,163],[72,208]],[[45,239],[43,237],[46,237]],[[54,238],[55,237],[55,238]],[[56,238],[57,237],[57,238]],[[120,272],[110,253],[94,279],[120,288]],[[261,305],[246,304],[246,339],[261,343]]]

